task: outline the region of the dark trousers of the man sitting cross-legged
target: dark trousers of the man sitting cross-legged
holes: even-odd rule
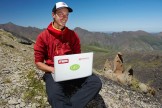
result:
[[[101,80],[94,74],[62,82],[55,82],[50,73],[45,73],[43,78],[52,108],[84,108],[102,87]]]

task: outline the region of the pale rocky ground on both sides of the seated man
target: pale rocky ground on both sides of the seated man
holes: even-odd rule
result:
[[[33,45],[20,44],[0,30],[0,108],[50,108],[45,89],[36,86],[44,85],[41,75],[34,66]],[[156,97],[99,77],[102,90],[87,108],[162,108]]]

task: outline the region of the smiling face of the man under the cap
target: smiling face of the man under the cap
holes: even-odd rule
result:
[[[56,11],[54,14],[55,22],[58,24],[58,26],[64,27],[66,25],[66,22],[68,20],[69,11],[67,8],[61,8]]]

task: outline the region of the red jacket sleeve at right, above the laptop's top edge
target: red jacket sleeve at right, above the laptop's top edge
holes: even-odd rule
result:
[[[78,35],[74,32],[75,38],[73,38],[74,40],[74,44],[73,44],[73,53],[74,54],[78,54],[81,53],[81,46],[80,46],[80,39],[78,37]]]

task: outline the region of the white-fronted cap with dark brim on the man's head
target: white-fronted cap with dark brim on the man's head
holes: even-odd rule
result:
[[[73,12],[73,9],[71,9],[71,8],[70,8],[66,3],[64,3],[64,2],[57,2],[57,3],[55,4],[55,6],[53,7],[52,12],[56,12],[57,9],[60,9],[60,8],[63,8],[63,7],[67,8],[67,9],[69,10],[69,12]]]

